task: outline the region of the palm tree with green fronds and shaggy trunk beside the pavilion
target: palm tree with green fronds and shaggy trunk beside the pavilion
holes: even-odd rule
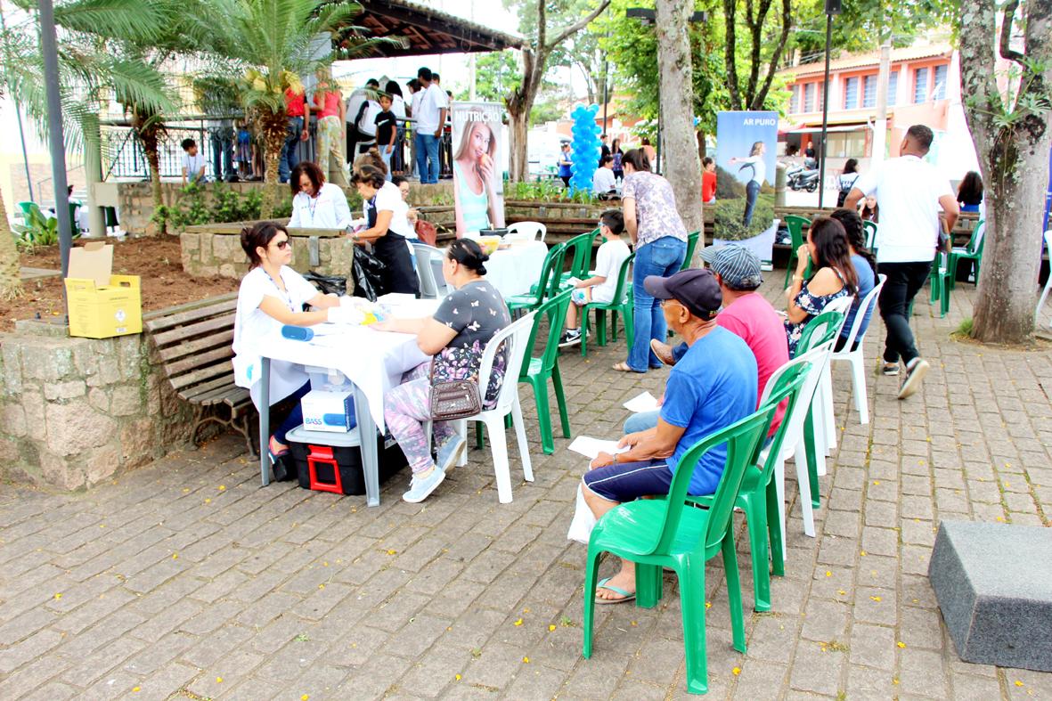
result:
[[[329,65],[336,58],[366,51],[369,40],[352,40],[337,54],[331,38],[337,29],[361,12],[355,3],[322,3],[318,0],[227,0],[228,19],[223,22],[219,49],[242,68],[238,81],[241,102],[263,136],[267,187],[262,216],[272,216],[278,184],[278,165],[285,144],[285,91],[303,89],[301,78]],[[324,39],[324,41],[322,40]]]

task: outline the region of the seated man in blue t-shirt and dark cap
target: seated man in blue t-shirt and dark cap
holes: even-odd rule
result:
[[[582,493],[596,519],[626,501],[668,494],[684,453],[756,408],[756,359],[741,337],[716,325],[723,293],[711,271],[649,276],[643,284],[662,300],[668,326],[686,339],[688,348],[669,375],[658,426],[625,436],[620,445],[626,452],[600,453],[589,465]],[[726,457],[726,446],[721,446],[692,466],[688,493],[714,493]],[[595,601],[629,601],[634,588],[635,565],[623,561],[616,575],[600,582]]]

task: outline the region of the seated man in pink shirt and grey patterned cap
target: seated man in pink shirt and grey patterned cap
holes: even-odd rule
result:
[[[752,350],[756,358],[757,397],[762,397],[771,375],[789,362],[789,343],[782,317],[756,292],[763,282],[760,259],[748,248],[736,244],[707,246],[702,251],[701,258],[715,274],[723,293],[723,308],[716,315],[716,324],[741,337]],[[650,341],[650,348],[666,365],[674,365],[687,353],[686,343],[673,348],[653,340]],[[778,407],[769,436],[774,435],[774,429],[782,424],[785,409],[785,404]],[[643,412],[629,417],[625,421],[625,434],[652,427],[656,424],[658,415],[659,412]]]

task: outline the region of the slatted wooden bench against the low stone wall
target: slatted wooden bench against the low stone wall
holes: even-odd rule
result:
[[[180,399],[194,406],[189,441],[197,444],[198,429],[206,423],[232,428],[257,455],[249,425],[256,416],[251,397],[234,383],[234,315],[238,294],[210,297],[144,315],[143,324],[151,339],[153,362]],[[222,409],[223,418],[215,413]]]

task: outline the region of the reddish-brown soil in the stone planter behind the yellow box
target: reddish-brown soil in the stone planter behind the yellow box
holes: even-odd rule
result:
[[[74,242],[77,245],[79,242]],[[206,297],[237,292],[239,282],[229,278],[191,278],[183,272],[179,237],[142,237],[116,241],[114,273],[138,275],[142,278],[142,309],[149,312],[175,304],[194,302]],[[21,264],[57,271],[59,247],[47,246],[24,253]],[[21,299],[0,306],[0,332],[15,329],[16,319],[36,319],[65,315],[61,278],[28,280]]]

